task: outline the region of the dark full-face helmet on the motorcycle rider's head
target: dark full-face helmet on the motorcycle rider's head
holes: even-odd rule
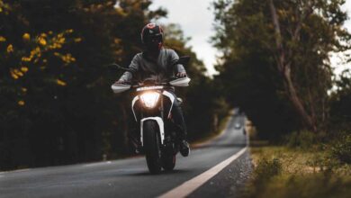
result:
[[[159,51],[163,45],[163,30],[156,23],[148,23],[141,31],[141,42],[149,51]]]

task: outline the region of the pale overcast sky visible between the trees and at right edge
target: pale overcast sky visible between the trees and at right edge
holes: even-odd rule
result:
[[[214,0],[154,0],[151,10],[157,7],[166,8],[167,18],[161,19],[159,23],[178,23],[184,31],[185,37],[191,37],[189,46],[192,46],[197,57],[202,59],[208,74],[216,73],[213,65],[216,63],[216,56],[219,55],[217,49],[210,43],[211,36],[214,35],[213,22],[214,14],[211,3]],[[347,0],[343,9],[351,17],[351,0]],[[345,27],[351,32],[351,20],[345,23]],[[349,51],[349,53],[351,53]],[[339,74],[345,68],[351,68],[351,63],[341,64],[343,54],[331,54],[330,61],[335,67],[335,73]]]

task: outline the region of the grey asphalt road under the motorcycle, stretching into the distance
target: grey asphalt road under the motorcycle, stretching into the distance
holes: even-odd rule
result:
[[[156,197],[202,174],[245,148],[247,138],[243,135],[243,128],[235,128],[237,122],[243,125],[244,120],[243,116],[232,116],[219,138],[193,149],[189,157],[178,155],[173,172],[148,174],[144,157],[3,172],[0,173],[0,197]],[[247,153],[243,155],[247,158],[246,156]],[[232,189],[233,186],[229,188],[227,186],[226,189],[220,190],[220,186],[225,188],[224,185],[228,185],[229,182],[222,183],[229,178],[230,181],[237,181],[236,183],[242,180],[239,179],[241,171],[247,168],[238,163],[240,160],[230,164],[190,196],[209,196],[211,192],[223,194],[223,191]],[[220,175],[223,175],[223,178],[219,177]],[[211,191],[212,184],[217,185],[212,186]]]

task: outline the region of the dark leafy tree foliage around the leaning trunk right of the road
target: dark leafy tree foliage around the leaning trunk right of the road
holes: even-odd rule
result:
[[[341,28],[347,19],[340,10],[344,1],[273,2],[279,37],[269,1],[258,0],[215,2],[213,37],[222,51],[216,78],[229,102],[247,112],[261,137],[271,139],[306,128],[301,112],[312,125],[325,127],[332,76],[329,53],[349,49],[350,44],[349,33]],[[282,56],[284,67],[279,67]]]

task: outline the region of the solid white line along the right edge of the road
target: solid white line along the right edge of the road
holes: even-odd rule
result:
[[[220,173],[224,167],[228,166],[232,161],[240,157],[246,150],[247,147],[242,148],[240,151],[238,151],[238,153],[220,162],[220,164],[213,166],[211,169],[207,170],[201,175],[197,175],[193,177],[193,179],[188,180],[167,193],[160,195],[159,198],[185,197],[190,193],[193,193],[193,191],[195,191],[202,184],[205,184],[209,179],[211,179],[211,177]]]

